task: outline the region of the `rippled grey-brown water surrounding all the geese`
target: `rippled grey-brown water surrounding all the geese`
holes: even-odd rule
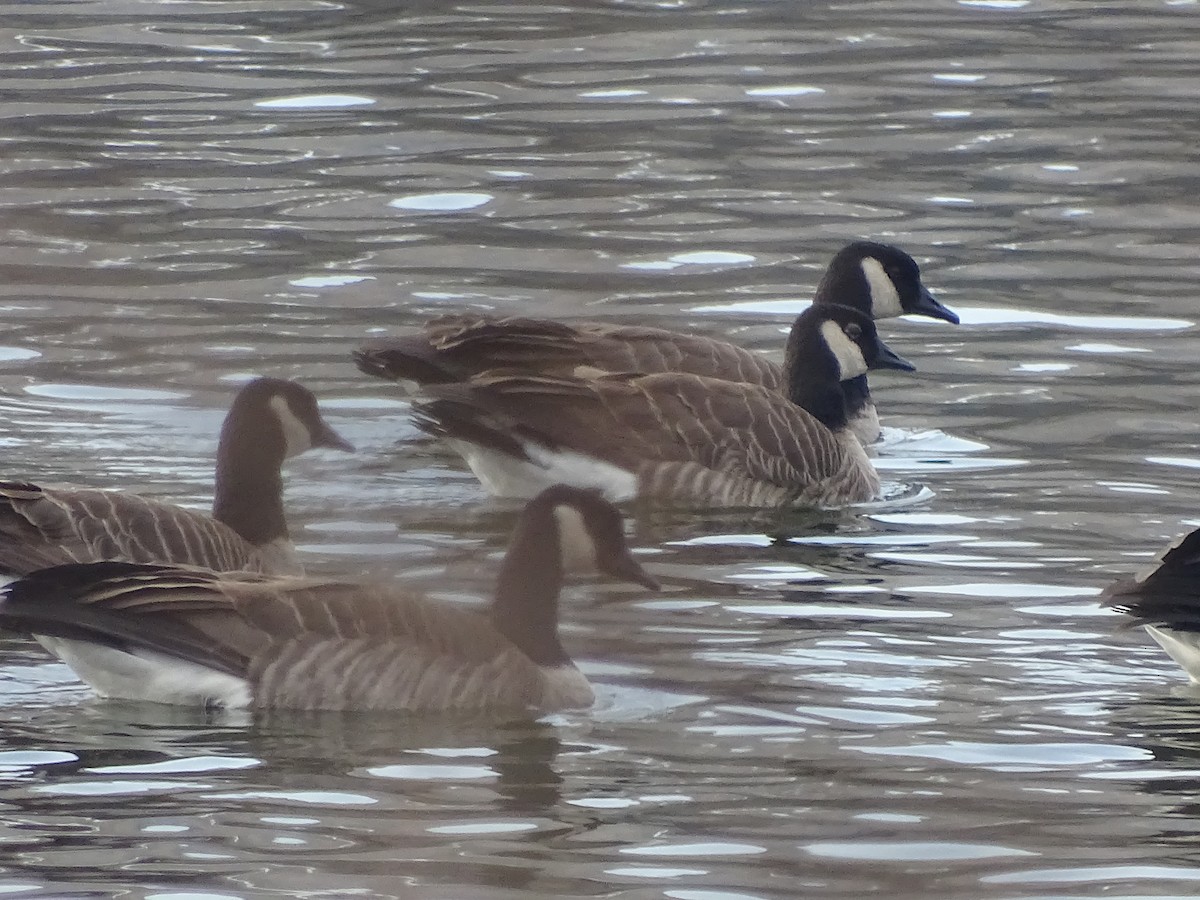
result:
[[[511,508],[358,374],[460,308],[780,352],[850,238],[904,499],[643,514],[535,724],[94,701],[0,640],[0,893],[1193,896],[1200,708],[1099,589],[1200,522],[1192,0],[0,2],[6,472],[203,505],[251,372],[312,568],[488,590]]]

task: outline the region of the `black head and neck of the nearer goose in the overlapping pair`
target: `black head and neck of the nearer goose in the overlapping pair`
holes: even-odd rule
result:
[[[838,430],[850,419],[846,382],[872,368],[912,372],[916,366],[880,340],[869,316],[838,304],[814,304],[792,325],[784,368],[792,402]]]

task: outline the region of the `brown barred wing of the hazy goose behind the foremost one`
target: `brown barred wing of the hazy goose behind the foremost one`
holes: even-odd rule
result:
[[[137,494],[0,482],[0,572],[104,559],[217,570],[262,565],[253,545],[200,512]]]

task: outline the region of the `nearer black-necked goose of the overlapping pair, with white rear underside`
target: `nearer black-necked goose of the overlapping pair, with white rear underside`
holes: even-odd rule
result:
[[[787,344],[790,397],[695,374],[479,376],[430,385],[418,427],[445,438],[484,487],[546,484],[718,506],[833,506],[874,498],[878,475],[847,426],[840,383],[912,370],[857,310],[808,308]]]

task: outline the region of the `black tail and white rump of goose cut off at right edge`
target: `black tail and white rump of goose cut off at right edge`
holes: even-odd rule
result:
[[[1102,599],[1132,616],[1200,684],[1200,529],[1180,538],[1151,569],[1111,584]]]

